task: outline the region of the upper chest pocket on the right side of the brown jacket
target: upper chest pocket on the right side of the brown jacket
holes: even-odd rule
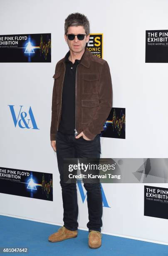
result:
[[[98,94],[98,74],[83,74],[82,94]]]

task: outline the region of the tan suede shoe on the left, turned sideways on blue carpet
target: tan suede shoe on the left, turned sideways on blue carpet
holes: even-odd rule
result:
[[[72,231],[62,226],[61,228],[58,229],[56,233],[49,236],[48,241],[59,242],[65,239],[75,238],[77,237],[77,233],[78,233],[77,230]]]

